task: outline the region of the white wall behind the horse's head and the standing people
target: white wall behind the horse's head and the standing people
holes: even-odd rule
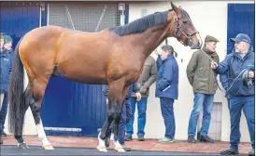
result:
[[[202,39],[207,34],[215,36],[220,40],[217,47],[217,53],[220,60],[226,54],[226,38],[227,38],[227,7],[229,3],[254,3],[239,1],[183,1],[174,2],[175,5],[183,7],[191,16],[195,28],[200,32]],[[149,2],[141,4],[131,4],[129,6],[129,21],[141,18],[141,10],[147,9],[148,14],[156,11],[164,11],[171,8],[169,2]],[[176,139],[187,139],[188,123],[193,106],[192,86],[189,84],[186,76],[186,67],[192,57],[192,50],[178,43],[175,38],[169,38],[168,43],[173,45],[178,52],[179,65],[179,97],[175,101],[174,111],[176,118]],[[154,54],[152,56],[155,57]],[[183,59],[183,62],[181,62]],[[154,97],[155,84],[150,88],[149,104],[147,110],[147,124],[145,137],[160,138],[164,136],[164,120],[160,110],[159,99]],[[230,116],[224,93],[217,91],[214,102],[222,102],[222,125],[221,140],[229,141],[230,135]],[[136,117],[135,117],[136,118]],[[135,120],[136,121],[136,120]],[[135,133],[136,126],[135,122]],[[249,141],[249,132],[244,114],[241,118],[241,141]],[[135,135],[134,135],[135,136]]]

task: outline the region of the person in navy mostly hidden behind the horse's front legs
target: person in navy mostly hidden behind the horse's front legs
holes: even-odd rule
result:
[[[103,90],[102,90],[103,94],[105,97],[108,97],[108,85],[104,85],[103,86]],[[139,88],[137,86],[137,84],[131,84],[130,87],[129,87],[129,90],[127,92],[127,95],[125,97],[125,100],[123,101],[123,106],[122,106],[122,111],[121,111],[121,120],[120,120],[120,123],[119,123],[119,132],[118,132],[118,140],[122,146],[122,149],[123,150],[126,150],[126,151],[130,151],[131,149],[130,148],[126,148],[125,145],[124,145],[124,136],[125,136],[125,124],[126,123],[129,123],[130,119],[131,119],[131,104],[129,103],[129,100],[128,98],[131,97],[132,93],[135,92],[135,96],[136,96],[136,100],[139,101],[141,99],[141,95],[139,93]],[[107,101],[108,103],[108,101]],[[105,145],[106,147],[109,146],[109,143],[108,143],[108,139],[111,135],[111,125],[108,129],[108,132],[107,132],[107,137],[106,140],[105,140]]]

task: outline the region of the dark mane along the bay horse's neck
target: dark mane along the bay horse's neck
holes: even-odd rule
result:
[[[155,12],[144,18],[127,23],[123,26],[116,26],[110,28],[109,31],[115,32],[121,36],[132,33],[144,32],[150,27],[166,23],[166,21],[168,20],[168,13],[171,10],[172,9],[166,10],[164,12]]]

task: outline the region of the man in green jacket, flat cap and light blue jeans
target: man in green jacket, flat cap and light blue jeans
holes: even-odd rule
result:
[[[187,66],[187,77],[193,89],[193,110],[188,128],[188,142],[195,143],[194,138],[198,116],[202,106],[204,107],[203,123],[200,131],[200,141],[211,142],[214,140],[207,136],[211,108],[214,94],[218,88],[216,75],[211,69],[211,61],[219,63],[219,56],[216,53],[216,45],[219,42],[215,37],[207,35],[205,45],[202,49],[195,51]]]

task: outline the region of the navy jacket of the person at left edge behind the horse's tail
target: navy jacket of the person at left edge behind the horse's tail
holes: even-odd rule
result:
[[[9,76],[12,69],[13,52],[4,49],[0,52],[0,93],[6,93],[9,85]]]

